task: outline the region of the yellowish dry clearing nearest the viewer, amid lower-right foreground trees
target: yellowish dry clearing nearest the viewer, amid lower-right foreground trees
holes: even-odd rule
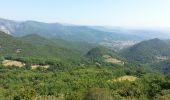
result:
[[[135,76],[126,75],[126,76],[119,77],[117,79],[108,80],[107,82],[135,81],[136,79],[138,78]]]

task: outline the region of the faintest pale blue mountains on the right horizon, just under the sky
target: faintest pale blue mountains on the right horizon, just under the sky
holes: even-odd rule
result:
[[[167,28],[125,28],[125,27],[108,27],[108,26],[94,26],[93,29],[107,31],[107,32],[115,32],[124,34],[127,36],[135,37],[136,40],[146,40],[153,38],[161,38],[161,39],[169,39],[170,38],[170,30]]]

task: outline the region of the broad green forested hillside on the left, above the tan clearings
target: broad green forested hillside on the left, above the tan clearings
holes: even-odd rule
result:
[[[69,44],[71,45],[71,43],[68,43],[68,45]],[[88,45],[86,47],[88,48]],[[65,46],[62,44],[59,45],[56,41],[48,40],[36,34],[16,38],[0,32],[0,54],[3,56],[55,57],[67,59],[72,57],[79,58],[83,55],[82,52],[85,51],[71,48],[71,46],[67,47],[66,44]]]

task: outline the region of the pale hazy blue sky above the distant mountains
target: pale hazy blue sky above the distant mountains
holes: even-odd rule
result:
[[[170,0],[0,0],[0,17],[80,25],[170,27]]]

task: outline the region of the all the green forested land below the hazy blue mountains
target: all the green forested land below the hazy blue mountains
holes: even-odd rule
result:
[[[115,52],[86,42],[0,32],[0,99],[169,100],[170,64],[156,60],[168,58],[167,45],[154,39]]]

